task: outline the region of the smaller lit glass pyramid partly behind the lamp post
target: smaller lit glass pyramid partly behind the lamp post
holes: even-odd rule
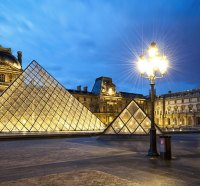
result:
[[[150,129],[150,118],[132,100],[119,116],[106,128],[104,134],[148,134]],[[161,130],[156,126],[158,134]]]

